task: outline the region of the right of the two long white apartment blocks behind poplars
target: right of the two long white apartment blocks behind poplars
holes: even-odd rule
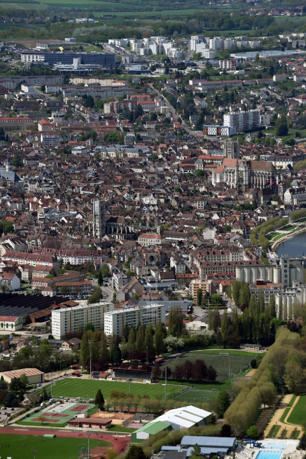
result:
[[[164,304],[148,304],[138,308],[112,310],[104,314],[104,331],[107,336],[122,336],[124,325],[138,327],[166,322],[166,306]]]

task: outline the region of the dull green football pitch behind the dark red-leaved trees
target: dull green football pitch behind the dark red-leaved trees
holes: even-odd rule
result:
[[[256,358],[256,354],[253,358]],[[241,373],[241,371],[248,368],[252,358],[250,356],[243,355],[243,353],[241,353],[241,355],[232,355],[228,352],[216,354],[189,352],[184,354],[182,357],[167,360],[167,366],[173,370],[175,365],[184,364],[186,360],[190,360],[194,363],[197,359],[204,360],[207,366],[212,365],[217,371],[216,381],[222,382],[228,377]],[[169,378],[169,383],[171,384],[170,381],[171,379]]]

